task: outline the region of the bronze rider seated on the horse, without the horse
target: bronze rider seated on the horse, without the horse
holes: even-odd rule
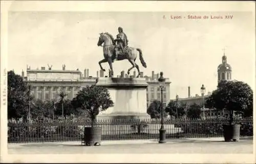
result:
[[[117,34],[115,42],[117,42],[116,48],[115,48],[115,59],[113,62],[117,59],[118,57],[118,50],[122,49],[122,52],[124,53],[124,48],[128,45],[128,40],[127,36],[125,33],[123,33],[123,29],[121,27],[118,28],[119,34]]]

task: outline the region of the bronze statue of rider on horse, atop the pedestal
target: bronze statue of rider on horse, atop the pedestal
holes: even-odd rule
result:
[[[119,34],[117,34],[117,38],[114,39],[113,36],[109,33],[100,33],[99,41],[97,43],[98,46],[102,46],[103,44],[103,56],[104,59],[99,61],[100,69],[105,71],[105,69],[102,68],[101,63],[108,62],[110,65],[110,71],[111,71],[111,77],[113,77],[113,67],[112,63],[114,61],[121,61],[124,59],[127,59],[131,64],[132,67],[128,69],[127,74],[130,74],[130,71],[133,68],[137,68],[138,75],[140,76],[140,70],[139,66],[135,63],[135,60],[137,58],[137,53],[139,52],[139,58],[140,62],[143,67],[146,68],[146,63],[142,57],[142,50],[140,48],[134,48],[128,46],[128,39],[126,34],[123,32],[123,29],[121,27],[118,28]]]

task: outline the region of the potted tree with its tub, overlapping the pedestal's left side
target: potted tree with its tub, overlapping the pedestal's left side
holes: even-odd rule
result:
[[[114,106],[108,89],[96,85],[87,86],[78,92],[72,100],[72,105],[84,110],[91,121],[90,127],[84,127],[84,144],[87,146],[100,145],[101,127],[97,126],[96,116],[100,111]]]

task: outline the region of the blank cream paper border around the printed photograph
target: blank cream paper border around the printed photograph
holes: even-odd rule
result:
[[[3,70],[7,68],[7,19],[8,11],[249,11],[253,1],[1,1],[1,95]],[[255,61],[255,58],[253,59]],[[253,77],[255,77],[255,69]],[[255,78],[254,78],[255,84]],[[255,86],[253,86],[255,91]],[[255,105],[255,98],[253,99]],[[33,154],[10,155],[7,151],[7,105],[1,96],[1,162],[148,162],[148,163],[255,163],[254,154]],[[255,106],[253,106],[255,107]],[[255,117],[255,112],[254,112]],[[254,129],[255,133],[255,129]],[[253,139],[255,141],[255,138]]]

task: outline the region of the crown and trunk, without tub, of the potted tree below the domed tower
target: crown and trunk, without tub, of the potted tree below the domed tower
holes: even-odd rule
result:
[[[252,114],[252,97],[252,90],[248,84],[237,80],[221,81],[206,103],[209,107],[229,111],[229,123],[231,124],[234,111],[243,115]]]

